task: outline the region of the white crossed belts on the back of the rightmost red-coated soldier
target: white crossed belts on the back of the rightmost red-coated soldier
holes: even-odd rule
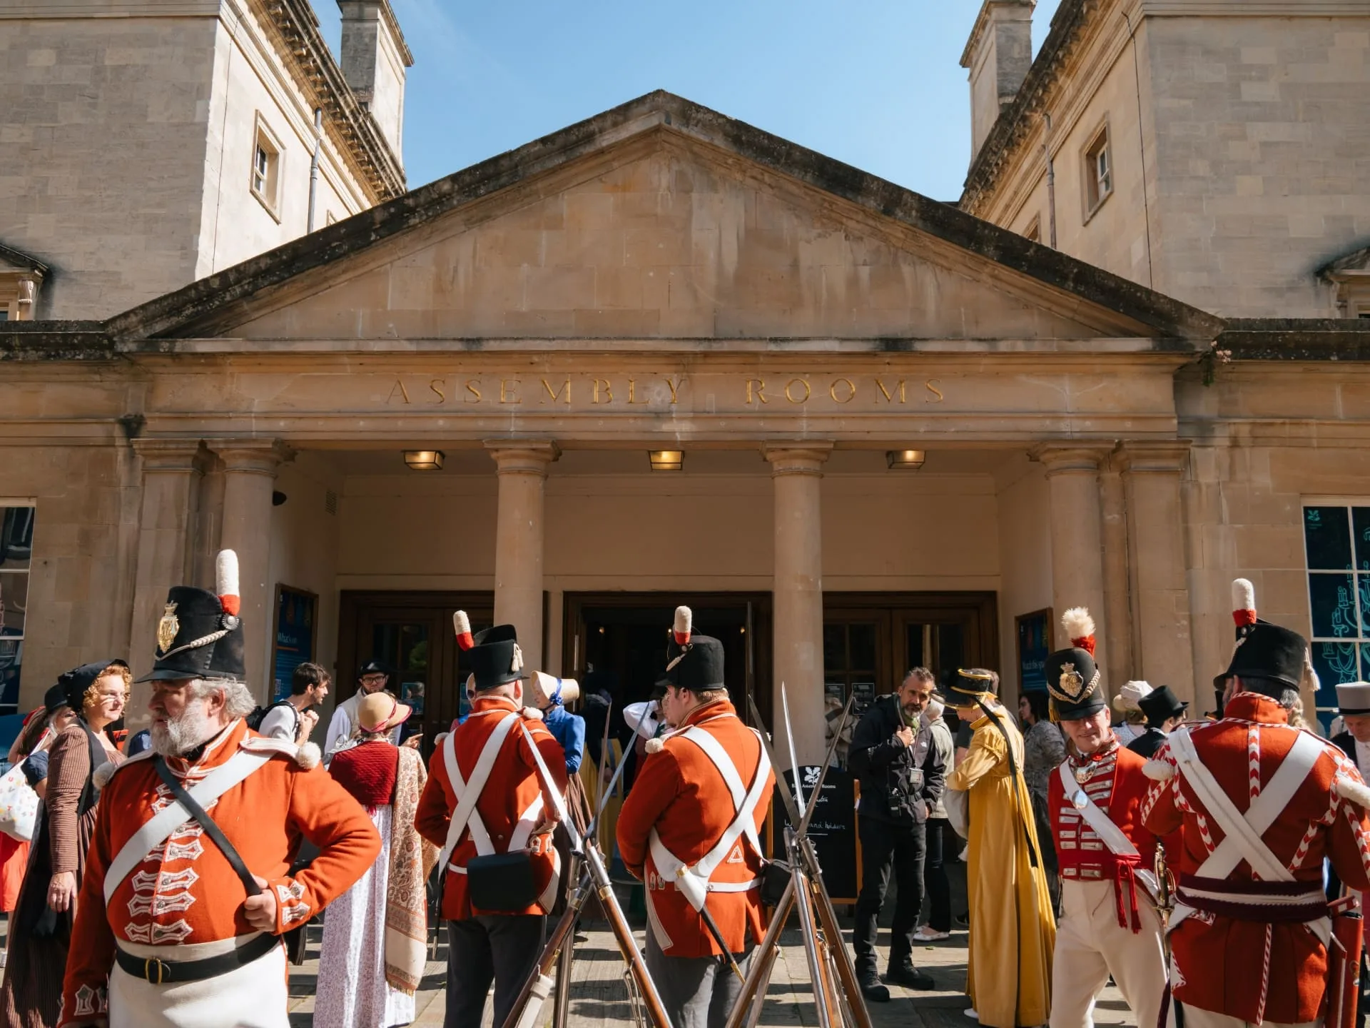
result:
[[[1199,866],[1195,874],[1206,879],[1226,879],[1236,870],[1241,861],[1245,861],[1263,881],[1293,881],[1293,874],[1271,853],[1260,836],[1278,820],[1280,814],[1289,806],[1289,800],[1293,799],[1295,792],[1299,791],[1299,787],[1308,777],[1308,773],[1318,762],[1318,757],[1322,755],[1322,743],[1306,732],[1299,732],[1299,737],[1295,739],[1293,747],[1291,747],[1289,752],[1280,762],[1280,768],[1270,779],[1270,783],[1251,800],[1251,806],[1243,814],[1222,790],[1222,785],[1218,784],[1217,779],[1212,777],[1212,772],[1199,759],[1199,752],[1195,748],[1193,739],[1189,737],[1188,728],[1171,732],[1169,742],[1170,752],[1180,766],[1180,773],[1189,783],[1199,802],[1203,803],[1204,810],[1208,811],[1208,817],[1218,824],[1223,833],[1223,840],[1208,854],[1208,858]],[[1291,899],[1297,902],[1299,898]],[[1243,898],[1243,902],[1255,901]],[[1170,921],[1171,929],[1193,911],[1192,906],[1177,903]],[[1326,946],[1332,935],[1332,921],[1322,917],[1307,922],[1307,927]]]

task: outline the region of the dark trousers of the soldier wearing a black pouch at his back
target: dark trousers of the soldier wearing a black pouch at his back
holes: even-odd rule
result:
[[[482,914],[447,922],[447,1017],[443,1028],[481,1028],[495,983],[495,1028],[504,1024],[543,951],[543,914]]]

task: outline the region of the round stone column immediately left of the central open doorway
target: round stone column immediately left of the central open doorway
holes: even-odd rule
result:
[[[518,629],[523,666],[543,668],[543,506],[551,440],[488,440],[500,477],[495,526],[495,624]]]

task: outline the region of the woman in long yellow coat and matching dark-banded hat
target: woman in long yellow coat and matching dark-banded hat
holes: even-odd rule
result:
[[[1022,735],[999,705],[993,672],[959,670],[949,691],[948,705],[974,733],[947,780],[948,790],[970,794],[966,992],[974,1009],[966,1013],[988,1028],[1045,1024],[1056,922],[1022,776]]]

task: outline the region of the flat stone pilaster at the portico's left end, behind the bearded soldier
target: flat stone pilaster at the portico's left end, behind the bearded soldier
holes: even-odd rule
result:
[[[133,450],[142,462],[142,509],[129,666],[140,678],[152,670],[167,589],[190,584],[193,524],[207,454],[197,439],[136,439]],[[134,731],[147,725],[147,698],[148,687],[136,685],[126,717]]]

